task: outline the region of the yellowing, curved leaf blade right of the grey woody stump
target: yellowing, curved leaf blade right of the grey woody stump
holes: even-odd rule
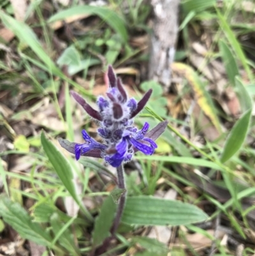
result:
[[[198,74],[194,72],[193,68],[183,63],[173,63],[171,67],[173,71],[183,75],[189,84],[191,84],[194,93],[196,94],[198,105],[200,105],[203,112],[210,118],[215,128],[221,132],[221,126],[215,111],[214,103],[212,102],[210,94],[208,94],[205,89],[205,84],[200,77],[198,77]]]

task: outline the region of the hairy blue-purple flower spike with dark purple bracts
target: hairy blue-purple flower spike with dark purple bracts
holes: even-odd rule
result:
[[[73,98],[82,105],[87,114],[98,121],[98,134],[103,143],[92,139],[85,130],[82,131],[85,140],[83,144],[64,139],[59,139],[59,142],[62,147],[75,154],[77,160],[80,156],[104,158],[106,163],[119,167],[122,163],[129,162],[136,151],[153,154],[157,147],[154,140],[164,132],[168,122],[157,124],[150,132],[148,123],[138,130],[134,126],[134,117],[145,107],[152,89],[144,94],[140,102],[136,102],[134,98],[128,98],[112,66],[109,66],[107,75],[109,88],[105,97],[98,97],[98,110],[93,109],[78,93],[71,91]]]

